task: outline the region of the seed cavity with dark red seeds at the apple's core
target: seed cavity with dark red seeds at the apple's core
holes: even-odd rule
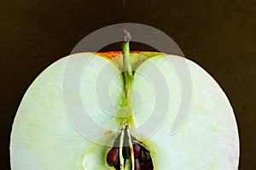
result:
[[[121,154],[120,154],[121,153]],[[113,147],[107,154],[108,166],[116,170],[153,170],[150,151],[142,142],[134,138],[128,126],[121,128]]]

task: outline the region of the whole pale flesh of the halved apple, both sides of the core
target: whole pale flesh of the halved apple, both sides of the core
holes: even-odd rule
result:
[[[12,169],[113,169],[108,166],[106,157],[116,139],[118,131],[114,132],[113,129],[119,129],[120,119],[113,119],[113,116],[102,111],[93,89],[102,68],[111,62],[113,67],[109,72],[118,76],[113,79],[109,89],[105,90],[106,94],[102,95],[110,95],[112,99],[113,105],[107,105],[108,111],[117,111],[116,106],[122,105],[124,82],[119,70],[122,64],[118,57],[120,54],[73,54],[50,65],[32,82],[20,103],[13,124],[10,140]],[[99,140],[108,143],[109,146],[96,144],[84,138],[73,127],[63,105],[61,90],[67,59],[72,57],[79,64],[81,59],[89,58],[91,55],[93,57],[81,77],[81,100],[92,119],[106,127],[106,132],[98,132],[96,135],[101,136]],[[180,77],[175,67],[168,64],[168,59],[186,62],[192,80],[189,114],[183,126],[174,135],[170,135],[170,129],[181,105],[183,89]],[[155,105],[152,84],[143,77],[143,74],[139,74],[152,71],[149,63],[159,68],[166,78],[170,109],[161,126],[146,138],[147,132],[137,132],[136,129],[147,123],[150,116],[148,113],[154,110]],[[131,65],[135,70],[131,88],[137,89],[140,94],[134,95],[131,102],[136,105],[137,98],[141,99],[136,114],[129,119],[132,124],[131,134],[150,150],[154,169],[238,168],[239,138],[236,119],[229,100],[206,71],[189,59],[152,52],[131,53]],[[107,81],[108,76],[105,78]],[[161,89],[161,82],[154,86],[155,90]],[[72,92],[70,87],[70,91],[65,93]],[[74,98],[75,96],[70,95],[68,102],[79,108],[79,104],[73,102]],[[113,114],[118,115],[119,112]],[[94,132],[93,127],[88,128]],[[137,163],[137,160],[135,162]],[[131,162],[127,161],[126,168],[131,168]]]

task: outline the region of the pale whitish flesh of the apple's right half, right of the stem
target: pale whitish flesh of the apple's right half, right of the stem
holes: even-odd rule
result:
[[[169,56],[169,59],[185,61],[177,56]],[[192,102],[183,127],[171,136],[170,131],[181,100],[181,84],[175,66],[168,65],[166,58],[150,60],[166,76],[171,96],[170,112],[164,124],[145,141],[156,162],[154,167],[166,169],[168,165],[168,169],[237,169],[239,139],[236,120],[230,103],[217,82],[198,65],[186,59],[192,79]],[[146,65],[147,63],[140,69],[143,70]],[[139,75],[134,80],[134,88],[143,92],[148,82]],[[161,83],[155,86],[160,88]],[[150,90],[145,91],[145,102],[138,113],[146,115],[150,112],[148,105],[154,105],[154,99],[148,98],[152,95]]]

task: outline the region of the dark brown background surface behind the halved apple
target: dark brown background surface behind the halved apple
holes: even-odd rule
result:
[[[256,167],[256,3],[253,1],[0,1],[1,163],[9,169],[9,135],[35,77],[103,26],[154,26],[214,77],[233,105],[241,139],[240,169]],[[150,50],[134,44],[131,48]],[[116,47],[108,47],[118,50]]]

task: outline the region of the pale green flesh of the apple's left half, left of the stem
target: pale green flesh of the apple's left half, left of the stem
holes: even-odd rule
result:
[[[90,57],[90,55],[75,54],[71,57],[79,59]],[[97,71],[101,70],[101,65],[108,63],[108,60],[102,57],[93,57],[90,62],[94,64],[90,63],[87,68],[90,70],[88,77],[93,80],[96,79]],[[32,82],[22,99],[11,134],[12,169],[84,169],[84,153],[91,142],[81,136],[73,127],[65,111],[61,87],[66,63],[67,58],[50,65]],[[95,68],[94,73],[93,68]],[[118,73],[117,69],[116,72]],[[121,82],[117,83],[118,79],[120,80],[120,77],[113,80],[112,92],[110,93],[113,95],[114,102],[118,101],[117,97],[114,98],[114,96],[119,96],[122,90]],[[86,82],[87,80],[82,78],[82,81]],[[93,89],[84,88],[83,83],[81,89],[87,93],[82,99],[87,102],[90,115],[96,113],[92,118],[98,122],[102,121],[99,115],[102,116],[103,111],[93,107],[96,105],[96,100],[91,93]],[[77,105],[72,103],[72,95],[70,103]],[[90,110],[94,112],[91,113]],[[105,120],[106,122],[113,121],[110,118],[105,118]],[[118,122],[114,121],[113,124],[117,129],[119,128]],[[86,127],[86,125],[84,126]],[[104,133],[108,133],[107,131],[108,129],[99,135],[103,137]],[[105,152],[99,154],[105,154]]]

